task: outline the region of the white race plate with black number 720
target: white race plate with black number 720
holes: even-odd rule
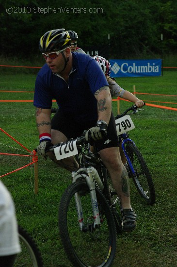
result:
[[[54,148],[54,153],[57,160],[68,158],[78,154],[78,149],[76,146],[76,140],[70,141],[60,147]]]

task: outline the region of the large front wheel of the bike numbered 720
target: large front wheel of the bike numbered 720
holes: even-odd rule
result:
[[[84,228],[80,230],[75,193],[81,192]],[[101,225],[93,228],[93,211],[86,182],[75,182],[65,190],[59,208],[59,230],[68,259],[75,267],[109,267],[116,250],[116,230],[112,212],[96,188]],[[94,201],[94,200],[92,200]]]

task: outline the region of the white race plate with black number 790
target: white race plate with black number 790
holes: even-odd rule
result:
[[[129,115],[115,120],[117,135],[124,134],[135,128],[134,123]]]

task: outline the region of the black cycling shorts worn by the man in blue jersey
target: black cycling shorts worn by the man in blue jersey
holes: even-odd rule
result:
[[[97,120],[90,122],[76,122],[72,116],[66,116],[62,114],[60,110],[54,115],[51,120],[51,129],[62,132],[67,139],[79,137],[84,130],[88,130],[91,127],[96,126]],[[98,151],[106,148],[118,147],[120,142],[116,132],[115,120],[113,113],[108,124],[107,135],[95,142]]]

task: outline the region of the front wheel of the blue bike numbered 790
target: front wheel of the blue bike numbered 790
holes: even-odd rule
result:
[[[125,149],[135,171],[134,175],[129,167],[129,177],[132,178],[140,196],[146,203],[154,204],[156,200],[154,183],[142,154],[131,143],[125,144]]]

